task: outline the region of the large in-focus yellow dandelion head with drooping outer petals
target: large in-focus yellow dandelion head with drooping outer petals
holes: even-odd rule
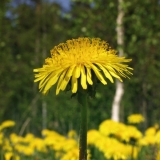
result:
[[[70,83],[72,93],[76,93],[79,84],[83,89],[93,85],[94,76],[104,85],[106,78],[112,83],[112,77],[122,81],[121,77],[132,74],[129,71],[132,68],[123,64],[130,61],[118,57],[116,51],[99,38],[67,40],[51,50],[51,57],[45,59],[42,68],[33,70],[37,72],[34,82],[40,82],[39,89],[44,94],[56,83],[56,94]]]

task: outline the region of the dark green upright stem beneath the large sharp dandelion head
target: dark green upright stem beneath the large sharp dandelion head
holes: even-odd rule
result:
[[[87,160],[87,94],[80,93],[78,101],[81,104],[81,124],[80,124],[80,140],[79,140],[79,160]]]

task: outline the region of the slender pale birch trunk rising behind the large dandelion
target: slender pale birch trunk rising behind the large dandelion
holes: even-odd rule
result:
[[[118,15],[117,15],[117,46],[118,46],[118,53],[119,56],[124,55],[123,47],[124,47],[124,27],[123,27],[123,17],[124,17],[124,10],[123,10],[123,0],[118,0]],[[124,94],[123,83],[116,80],[116,92],[114,96],[114,100],[112,103],[112,120],[119,121],[119,113],[120,113],[120,103],[122,100],[122,96]]]

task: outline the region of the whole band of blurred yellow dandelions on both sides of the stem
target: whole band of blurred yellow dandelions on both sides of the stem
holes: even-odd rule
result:
[[[5,125],[4,125],[5,124]],[[28,133],[25,136],[19,136],[11,133],[9,137],[4,134],[4,128],[12,127],[13,121],[5,121],[0,125],[0,148],[4,160],[24,160],[24,157],[30,159],[39,159],[38,155],[53,156],[57,160],[78,160],[78,135],[74,130],[63,136],[53,130],[42,130],[42,138]],[[4,127],[5,126],[5,127]],[[135,126],[105,120],[99,125],[98,130],[89,130],[87,133],[88,149],[91,146],[97,148],[106,159],[130,159],[137,158],[143,147],[160,147],[160,130],[158,126],[148,128],[142,134]],[[134,143],[132,143],[134,140]],[[158,148],[157,148],[158,149]],[[160,148],[159,148],[160,149]],[[94,155],[88,152],[88,160],[94,159]],[[160,152],[156,153],[157,159]]]

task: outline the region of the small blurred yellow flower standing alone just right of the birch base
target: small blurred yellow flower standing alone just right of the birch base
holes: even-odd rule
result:
[[[141,114],[132,114],[128,116],[129,123],[141,123],[144,121],[144,117]]]

